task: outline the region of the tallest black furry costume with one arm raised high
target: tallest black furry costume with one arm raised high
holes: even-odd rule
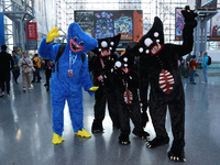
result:
[[[146,144],[148,147],[156,147],[169,142],[165,129],[168,106],[174,135],[168,157],[183,162],[185,161],[185,94],[177,61],[193,50],[197,14],[189,10],[188,6],[182,13],[185,18],[183,45],[164,44],[163,23],[155,18],[152,29],[131,52],[140,56],[141,99],[145,105],[148,84],[151,85],[148,107],[156,138]]]

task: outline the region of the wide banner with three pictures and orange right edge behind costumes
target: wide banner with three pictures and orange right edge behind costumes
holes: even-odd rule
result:
[[[112,37],[120,33],[118,47],[121,48],[139,42],[143,36],[142,10],[75,11],[75,22],[95,38]]]

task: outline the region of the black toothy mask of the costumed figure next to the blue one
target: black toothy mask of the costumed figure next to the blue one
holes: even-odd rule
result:
[[[108,57],[116,52],[120,38],[121,34],[118,34],[113,37],[99,38],[98,47],[92,50],[92,52],[97,54],[100,58]]]

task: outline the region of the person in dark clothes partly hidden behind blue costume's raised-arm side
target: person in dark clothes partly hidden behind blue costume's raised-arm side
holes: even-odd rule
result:
[[[54,68],[54,63],[51,59],[44,59],[45,63],[45,76],[46,76],[46,84],[44,85],[46,87],[46,90],[50,90],[50,79],[52,76],[52,69]]]

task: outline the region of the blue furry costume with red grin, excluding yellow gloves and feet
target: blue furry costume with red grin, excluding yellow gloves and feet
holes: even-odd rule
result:
[[[47,43],[45,37],[42,40],[38,54],[43,58],[53,59],[55,63],[61,44],[53,45],[53,42]],[[55,72],[52,73],[50,87],[53,108],[53,131],[59,136],[64,131],[64,107],[66,100],[75,134],[84,128],[81,87],[89,95],[92,95],[94,91],[89,89],[94,86],[89,77],[88,58],[85,55],[85,62],[82,62],[80,54],[94,50],[97,45],[97,40],[84,33],[77,23],[69,25],[67,44],[58,59],[58,65],[55,64]],[[69,69],[73,70],[72,76],[69,76]]]

